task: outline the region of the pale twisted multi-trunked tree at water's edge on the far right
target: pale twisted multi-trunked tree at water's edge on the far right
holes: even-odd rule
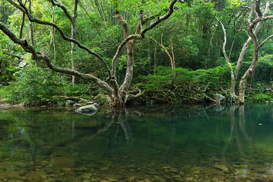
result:
[[[247,19],[247,31],[243,30],[243,29],[237,30],[235,28],[235,26],[234,26],[234,29],[235,29],[235,31],[242,30],[244,32],[247,32],[248,33],[248,39],[244,43],[243,48],[241,49],[240,56],[238,58],[238,62],[237,62],[236,69],[234,70],[234,72],[233,72],[232,66],[231,66],[231,64],[229,62],[229,58],[227,57],[227,54],[225,52],[226,31],[224,29],[224,25],[222,24],[222,22],[220,22],[215,17],[217,19],[217,21],[221,24],[221,27],[222,27],[222,29],[224,31],[223,53],[224,53],[226,62],[228,64],[229,68],[230,68],[230,73],[231,73],[231,83],[230,83],[230,86],[229,86],[229,89],[228,89],[228,91],[230,92],[230,99],[231,99],[231,101],[235,100],[235,98],[238,98],[238,103],[244,103],[245,83],[246,83],[248,77],[253,73],[253,71],[254,71],[254,69],[256,67],[256,64],[257,64],[257,61],[258,61],[259,50],[261,49],[261,47],[269,39],[271,39],[273,37],[273,35],[270,35],[264,41],[262,41],[261,43],[259,43],[259,41],[257,39],[257,36],[256,36],[256,34],[257,34],[258,30],[259,30],[261,22],[265,21],[265,20],[268,20],[268,19],[273,19],[272,15],[271,16],[266,16],[268,14],[268,12],[269,12],[269,8],[270,8],[271,4],[272,4],[272,2],[268,1],[266,3],[266,5],[265,5],[265,9],[262,12],[262,10],[260,8],[260,5],[261,5],[260,0],[255,0],[255,1],[252,0],[251,1],[251,7],[249,7],[249,6],[243,6],[242,3],[241,3],[241,8],[248,9],[250,11],[249,15],[248,15],[248,19]],[[254,12],[256,12],[256,13],[254,13]],[[254,17],[254,14],[256,15],[255,17]],[[251,65],[249,66],[249,68],[247,69],[247,71],[244,73],[244,76],[241,77],[240,86],[239,86],[239,96],[237,97],[235,95],[235,92],[234,92],[235,91],[235,82],[236,82],[236,79],[237,79],[238,72],[239,72],[239,69],[241,67],[241,64],[243,62],[244,53],[248,49],[251,41],[253,42],[253,48],[254,48],[253,58],[252,58]]]

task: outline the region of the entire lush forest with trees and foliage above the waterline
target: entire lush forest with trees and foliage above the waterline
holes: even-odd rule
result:
[[[265,0],[0,0],[0,98],[114,108],[270,102],[272,8]]]

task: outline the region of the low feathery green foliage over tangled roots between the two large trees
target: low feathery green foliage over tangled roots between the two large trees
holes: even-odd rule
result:
[[[163,96],[161,99],[165,102],[180,103],[204,95],[211,90],[219,92],[221,87],[227,88],[229,68],[227,65],[208,70],[177,68],[173,72],[170,67],[158,66],[156,74],[138,78],[141,83],[136,85],[142,89],[157,93],[157,97]],[[153,98],[152,95],[150,97]]]

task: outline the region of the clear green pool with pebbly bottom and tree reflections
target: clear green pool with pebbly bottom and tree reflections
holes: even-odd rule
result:
[[[273,181],[273,105],[2,110],[6,180]]]

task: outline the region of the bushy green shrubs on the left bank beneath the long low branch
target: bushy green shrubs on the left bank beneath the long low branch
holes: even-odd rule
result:
[[[63,76],[49,69],[27,66],[23,68],[16,82],[0,88],[0,96],[12,103],[28,105],[64,104],[62,99],[53,96],[74,96],[89,98],[90,86],[72,85]],[[60,82],[60,80],[62,80]]]

